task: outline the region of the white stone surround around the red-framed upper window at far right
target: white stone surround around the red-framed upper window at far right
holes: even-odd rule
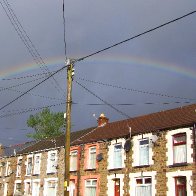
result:
[[[192,140],[192,130],[190,128],[181,128],[181,129],[175,129],[170,130],[166,134],[166,156],[167,156],[167,166],[174,164],[173,159],[173,136],[180,133],[186,133],[186,147],[187,147],[187,163],[193,163],[193,157],[191,156],[193,154],[193,148],[191,148],[191,145],[193,144]]]

